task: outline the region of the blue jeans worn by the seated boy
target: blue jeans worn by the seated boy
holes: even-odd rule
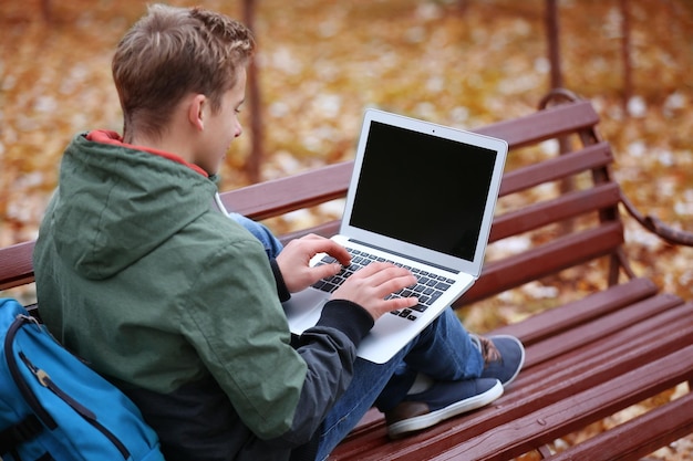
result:
[[[265,226],[237,213],[229,216],[260,240],[269,258],[276,258],[281,251],[281,243]],[[374,364],[356,359],[349,388],[322,422],[316,459],[327,459],[372,406],[386,411],[402,401],[416,374],[451,381],[478,378],[483,368],[482,355],[453,310],[447,307],[390,362]]]

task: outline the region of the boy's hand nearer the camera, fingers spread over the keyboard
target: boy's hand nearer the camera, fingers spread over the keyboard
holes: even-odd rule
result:
[[[371,263],[354,272],[332,293],[332,300],[349,300],[365,308],[373,319],[399,308],[413,307],[416,297],[385,300],[391,293],[416,283],[416,277],[406,269],[390,263]]]

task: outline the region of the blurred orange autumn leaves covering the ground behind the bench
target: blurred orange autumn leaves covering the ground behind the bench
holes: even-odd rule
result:
[[[244,2],[194,3],[244,14]],[[623,2],[557,3],[565,86],[597,106],[601,134],[617,153],[614,176],[640,211],[692,230],[693,3],[625,2],[629,101],[622,98]],[[35,237],[60,155],[74,133],[121,129],[110,59],[145,4],[0,2],[0,245]],[[263,179],[350,158],[366,106],[461,128],[531,113],[549,85],[545,8],[545,0],[256,0]],[[229,153],[223,189],[247,184],[250,145],[247,132]],[[339,214],[339,205],[321,212]],[[311,219],[297,214],[272,226],[286,230]],[[628,218],[625,223],[635,272],[693,298],[693,250],[668,245]],[[592,277],[586,270],[532,283],[462,315],[469,328],[489,329],[602,283]],[[683,391],[673,389],[659,400]],[[658,404],[634,406],[571,439]],[[691,459],[692,447],[690,437],[652,457]]]

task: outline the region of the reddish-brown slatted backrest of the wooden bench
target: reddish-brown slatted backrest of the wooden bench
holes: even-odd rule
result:
[[[618,281],[619,264],[624,263],[620,189],[610,176],[610,146],[594,130],[598,122],[592,105],[578,99],[476,129],[506,139],[510,154],[487,263],[479,281],[458,303],[604,255],[612,260],[608,283]],[[549,139],[555,139],[550,153]],[[343,198],[352,165],[345,161],[240,188],[223,193],[221,199],[229,209],[256,220],[279,217]],[[308,232],[330,235],[338,227],[338,221],[330,221],[282,238]],[[0,250],[0,289],[33,281],[32,249],[33,242],[24,242]]]

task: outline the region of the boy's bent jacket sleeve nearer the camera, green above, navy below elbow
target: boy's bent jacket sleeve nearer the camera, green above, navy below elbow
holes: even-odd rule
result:
[[[258,242],[231,241],[206,259],[196,277],[183,333],[258,438],[306,443],[349,386],[356,344],[372,319],[351,303],[329,304],[297,350]]]

